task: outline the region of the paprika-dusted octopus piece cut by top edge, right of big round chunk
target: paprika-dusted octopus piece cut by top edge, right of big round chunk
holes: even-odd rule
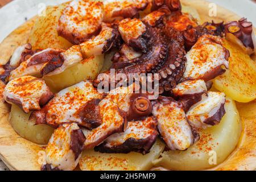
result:
[[[138,18],[139,11],[146,9],[148,0],[106,0],[104,1],[104,21]]]

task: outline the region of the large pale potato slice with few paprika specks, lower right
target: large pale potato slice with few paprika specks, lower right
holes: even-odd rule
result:
[[[219,125],[200,131],[199,142],[186,151],[163,152],[157,166],[173,170],[201,170],[222,163],[237,146],[242,129],[235,102],[227,98],[225,110]]]

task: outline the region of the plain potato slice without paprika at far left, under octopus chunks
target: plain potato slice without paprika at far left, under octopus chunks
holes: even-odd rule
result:
[[[13,129],[31,142],[47,144],[53,133],[53,128],[48,125],[35,125],[34,120],[28,120],[30,113],[26,114],[16,105],[11,106],[9,121]]]

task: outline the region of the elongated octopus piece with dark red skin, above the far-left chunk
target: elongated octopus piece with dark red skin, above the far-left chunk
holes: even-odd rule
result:
[[[60,65],[57,65],[60,67],[63,63],[63,59],[60,56],[61,52],[64,52],[64,50],[48,48],[35,53],[28,60],[22,62],[18,68],[11,71],[9,80],[26,75],[40,75],[49,70],[52,71],[53,68],[57,68],[56,64],[52,64],[51,66],[51,64],[47,64],[48,62],[60,62]]]

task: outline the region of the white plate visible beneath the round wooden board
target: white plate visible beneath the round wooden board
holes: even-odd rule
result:
[[[15,0],[0,9],[0,42],[6,38],[15,28],[40,13],[44,6],[58,5],[69,0]],[[193,0],[191,0],[193,1]],[[234,13],[248,18],[256,24],[256,3],[249,0],[208,0],[225,7]],[[0,160],[0,171],[5,167]]]

